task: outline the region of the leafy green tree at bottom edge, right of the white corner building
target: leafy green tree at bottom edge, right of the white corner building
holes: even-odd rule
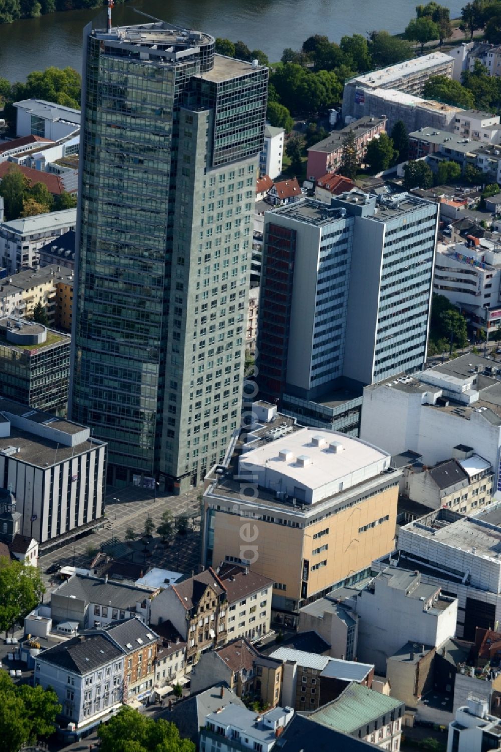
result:
[[[180,737],[174,723],[122,706],[119,712],[98,729],[100,752],[195,752],[195,744]]]

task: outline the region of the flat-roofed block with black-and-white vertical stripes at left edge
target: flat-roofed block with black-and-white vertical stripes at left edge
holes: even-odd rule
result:
[[[20,535],[42,543],[101,517],[106,444],[5,397],[0,414],[0,487],[14,493]]]

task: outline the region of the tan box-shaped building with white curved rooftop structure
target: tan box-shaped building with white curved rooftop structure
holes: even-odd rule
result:
[[[249,443],[244,432],[243,454],[207,475],[202,556],[207,566],[240,562],[272,578],[273,624],[296,626],[302,605],[357,580],[373,551],[392,550],[400,474],[358,439],[287,421],[282,438],[273,440],[275,430],[265,424]]]

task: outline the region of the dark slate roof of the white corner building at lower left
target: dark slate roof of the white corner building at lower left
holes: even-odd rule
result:
[[[99,666],[107,665],[115,658],[123,657],[122,650],[103,635],[83,639],[82,636],[71,638],[55,647],[50,647],[49,650],[44,650],[44,653],[38,656],[38,660],[59,666],[74,674],[84,675],[95,671]]]

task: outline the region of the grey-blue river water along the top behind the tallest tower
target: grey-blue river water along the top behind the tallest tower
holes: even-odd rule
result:
[[[113,25],[157,18],[233,41],[243,40],[279,60],[285,47],[299,49],[312,34],[331,41],[373,29],[397,33],[415,15],[418,0],[131,0],[113,9]],[[423,0],[424,2],[424,0]],[[451,18],[465,0],[443,0]],[[71,65],[80,71],[82,30],[90,20],[105,25],[105,11],[67,11],[0,26],[0,77],[25,80],[33,70]],[[95,24],[96,25],[96,24]]]

